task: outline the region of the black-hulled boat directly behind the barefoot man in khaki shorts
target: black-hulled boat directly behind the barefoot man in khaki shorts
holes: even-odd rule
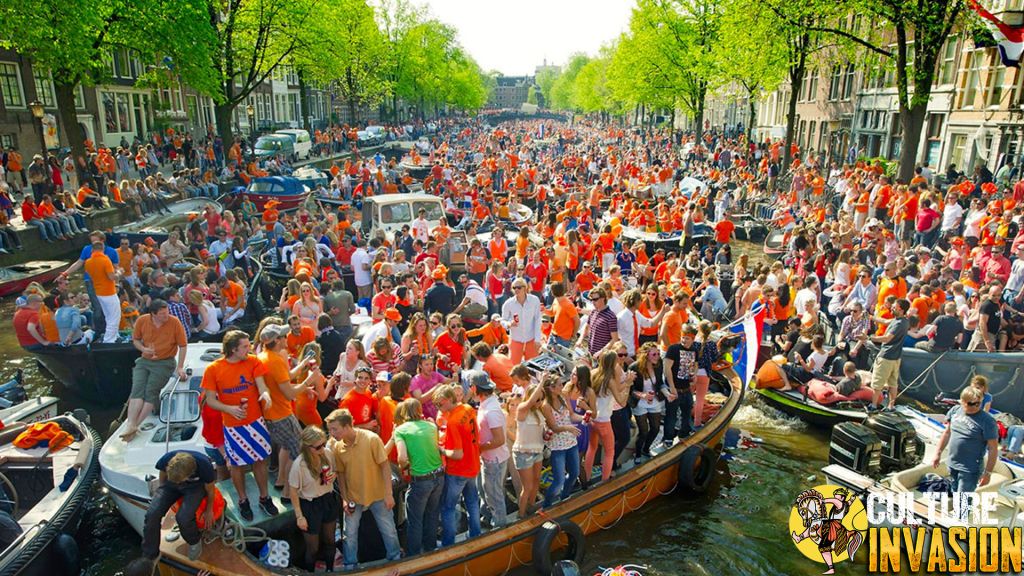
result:
[[[244,330],[254,330],[263,317],[259,301],[263,266],[258,257],[251,257],[254,274],[246,296],[246,312],[242,320],[233,323]],[[216,341],[223,338],[227,327],[216,334],[199,336],[193,341]],[[135,344],[92,342],[74,346],[44,346],[33,351],[36,360],[63,385],[66,390],[104,407],[120,406],[131,390],[131,371],[140,353]]]

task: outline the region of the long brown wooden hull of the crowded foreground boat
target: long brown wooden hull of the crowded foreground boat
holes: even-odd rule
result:
[[[696,434],[644,464],[578,493],[546,509],[543,517],[534,515],[446,548],[399,562],[371,563],[351,573],[384,576],[397,570],[403,576],[465,576],[467,573],[497,576],[532,562],[534,539],[546,522],[568,520],[577,524],[584,534],[610,528],[623,516],[678,489],[679,460],[689,447],[697,444],[716,447],[721,444],[744,394],[744,386],[734,371],[729,369],[723,374],[732,390],[718,414]],[[172,519],[165,519],[164,528],[169,529],[172,524]],[[219,544],[216,547],[207,546],[201,562],[188,561],[187,546],[181,542],[164,544],[162,552],[161,562],[170,569],[170,574],[179,576],[191,576],[201,568],[215,570],[219,576],[255,576],[265,574],[267,570],[252,556],[238,554]]]

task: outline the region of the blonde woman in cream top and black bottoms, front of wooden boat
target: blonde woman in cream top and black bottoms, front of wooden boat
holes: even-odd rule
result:
[[[321,550],[328,553],[334,549],[334,527],[338,522],[336,475],[334,452],[327,450],[327,435],[317,426],[307,426],[299,437],[299,457],[288,475],[288,485],[292,488],[295,524],[306,543],[303,561],[309,571],[314,569]],[[334,554],[330,556],[328,562],[334,562]]]

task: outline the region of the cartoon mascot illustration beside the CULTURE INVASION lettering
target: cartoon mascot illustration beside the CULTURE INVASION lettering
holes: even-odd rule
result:
[[[793,540],[799,544],[804,538],[810,538],[818,545],[821,559],[828,566],[828,570],[822,574],[834,573],[833,552],[840,554],[846,550],[852,560],[863,540],[860,533],[843,526],[843,519],[850,511],[854,496],[845,488],[837,488],[833,496],[835,497],[825,498],[817,490],[805,490],[797,496],[796,503],[806,530],[802,534],[794,532]],[[827,513],[826,504],[831,504]]]

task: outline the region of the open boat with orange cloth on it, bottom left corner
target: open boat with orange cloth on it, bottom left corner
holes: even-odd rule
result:
[[[71,436],[71,445],[51,452],[45,445],[32,449],[14,446],[14,439],[29,424],[13,423],[0,430],[0,486],[3,504],[13,504],[11,516],[22,528],[14,541],[0,552],[0,574],[52,576],[78,574],[81,561],[74,535],[99,474],[102,441],[85,422],[83,411],[44,420]],[[70,487],[60,491],[66,475],[78,468]],[[8,498],[14,500],[10,502]]]

